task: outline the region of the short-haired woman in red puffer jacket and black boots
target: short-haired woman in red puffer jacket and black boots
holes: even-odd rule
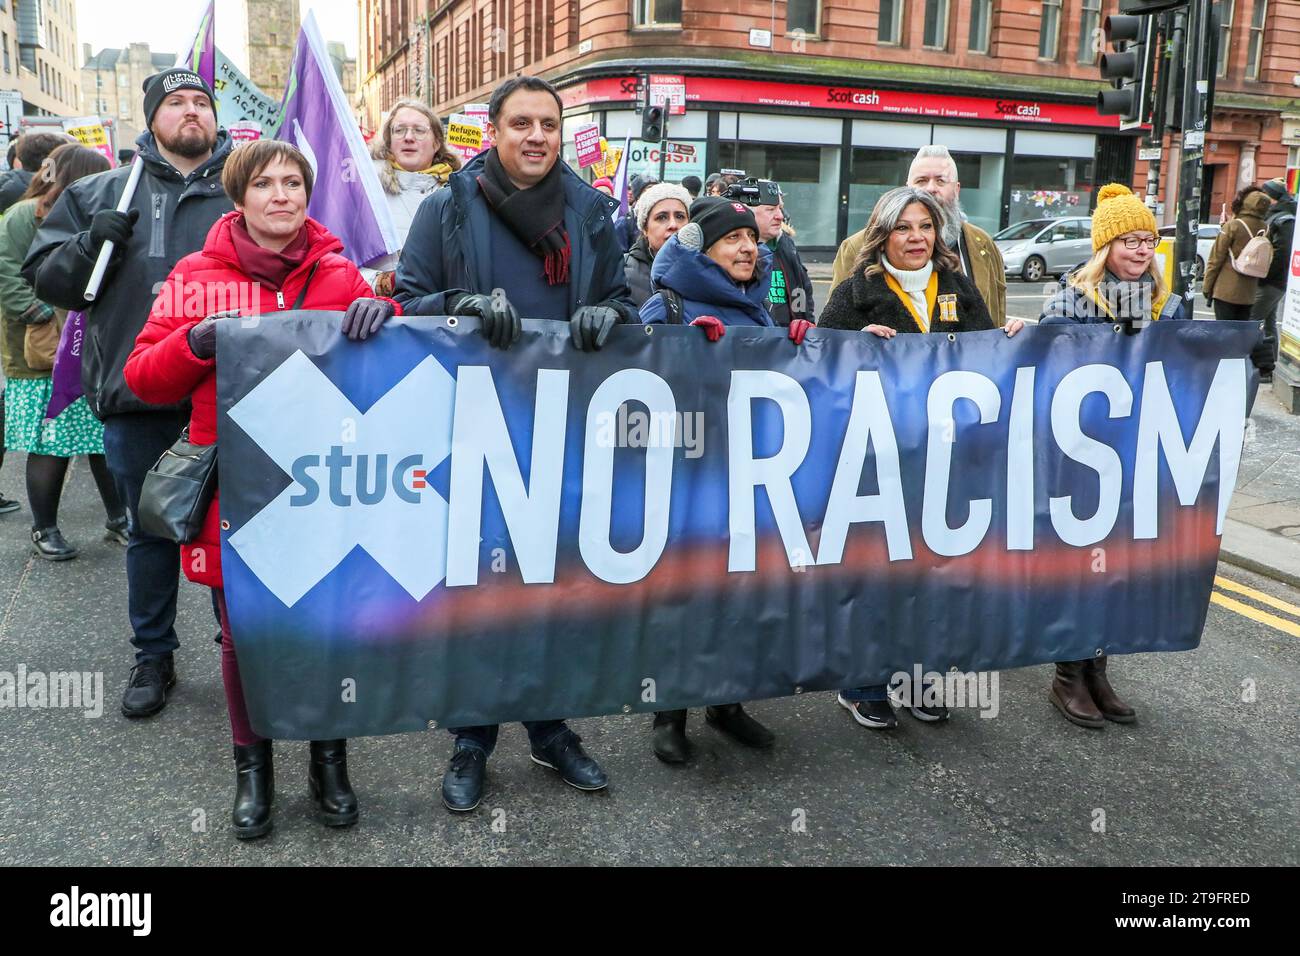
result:
[[[238,306],[238,315],[260,316],[344,311],[342,330],[352,339],[368,338],[400,312],[391,299],[374,298],[360,271],[339,255],[343,243],[307,219],[312,179],[307,159],[289,143],[259,140],[237,150],[221,176],[235,211],[217,220],[202,252],[172,269],[126,360],[126,384],[143,401],[191,401],[190,441],[196,445],[217,440],[216,326],[235,315],[228,310]],[[181,561],[186,578],[216,592],[221,617],[221,672],[235,744],[235,835],[263,836],[270,831],[274,792],[270,741],[254,732],[244,706],[222,591],[216,497]],[[358,818],[346,748],[346,740],[312,741],[308,783],[328,826]]]

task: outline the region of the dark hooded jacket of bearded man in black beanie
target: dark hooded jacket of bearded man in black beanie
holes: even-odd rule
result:
[[[117,207],[130,166],[87,176],[64,190],[22,267],[42,302],[86,312],[82,388],[100,419],[157,411],[126,386],[122,367],[159,284],[182,256],[203,248],[212,225],[234,206],[221,187],[230,155],[230,134],[224,129],[217,130],[212,157],[187,177],[162,159],[152,133],[142,133],[135,142],[144,170],[130,208],[140,217],[126,248],[114,251],[95,303],[87,308],[82,295],[99,256],[99,247],[90,242],[91,217]]]

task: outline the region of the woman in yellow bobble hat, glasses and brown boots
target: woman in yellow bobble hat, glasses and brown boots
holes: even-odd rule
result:
[[[1150,209],[1126,186],[1102,186],[1092,213],[1092,259],[1066,277],[1039,324],[1123,323],[1138,330],[1156,319],[1186,319],[1182,298],[1169,291],[1156,265],[1157,242]],[[1080,727],[1138,719],[1110,685],[1105,657],[1057,661],[1052,702]]]

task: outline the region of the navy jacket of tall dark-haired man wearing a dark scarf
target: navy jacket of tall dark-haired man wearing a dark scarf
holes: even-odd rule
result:
[[[480,153],[420,206],[402,247],[393,294],[408,315],[447,315],[451,293],[491,294],[491,230],[507,226],[478,189],[477,177],[486,161],[486,153]],[[623,274],[623,248],[610,221],[618,202],[582,182],[567,163],[556,161],[571,250],[568,313],[604,303],[623,321],[636,321]]]

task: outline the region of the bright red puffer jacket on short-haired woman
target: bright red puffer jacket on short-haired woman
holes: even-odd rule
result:
[[[190,350],[190,329],[204,319],[203,315],[187,315],[186,303],[192,290],[216,286],[222,290],[221,298],[228,299],[226,307],[238,304],[243,315],[264,316],[292,308],[304,285],[307,295],[300,306],[304,310],[342,311],[356,299],[374,297],[360,271],[339,255],[343,243],[320,222],[308,219],[304,224],[308,234],[307,256],[302,265],[285,277],[280,294],[263,289],[257,302],[238,302],[246,297],[230,297],[229,290],[239,285],[251,287],[254,284],[239,263],[230,235],[239,217],[238,212],[222,216],[208,233],[203,251],[187,255],[176,264],[155,299],[148,321],[135,339],[124,368],[126,384],[142,402],[157,406],[192,399],[190,441],[195,445],[211,445],[217,440],[217,363],[216,359],[200,359]],[[182,289],[185,293],[177,291]],[[229,302],[229,298],[237,302]],[[204,307],[200,311],[212,310]],[[203,554],[202,561],[194,559],[196,551]],[[181,546],[181,559],[185,576],[191,581],[209,588],[222,587],[217,496],[213,496],[208,506],[199,536]]]

